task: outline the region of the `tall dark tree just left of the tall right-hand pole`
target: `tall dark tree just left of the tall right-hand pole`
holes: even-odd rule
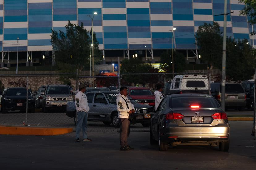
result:
[[[217,22],[204,23],[196,32],[197,45],[200,48],[202,60],[210,64],[210,68],[221,69],[223,36]]]

